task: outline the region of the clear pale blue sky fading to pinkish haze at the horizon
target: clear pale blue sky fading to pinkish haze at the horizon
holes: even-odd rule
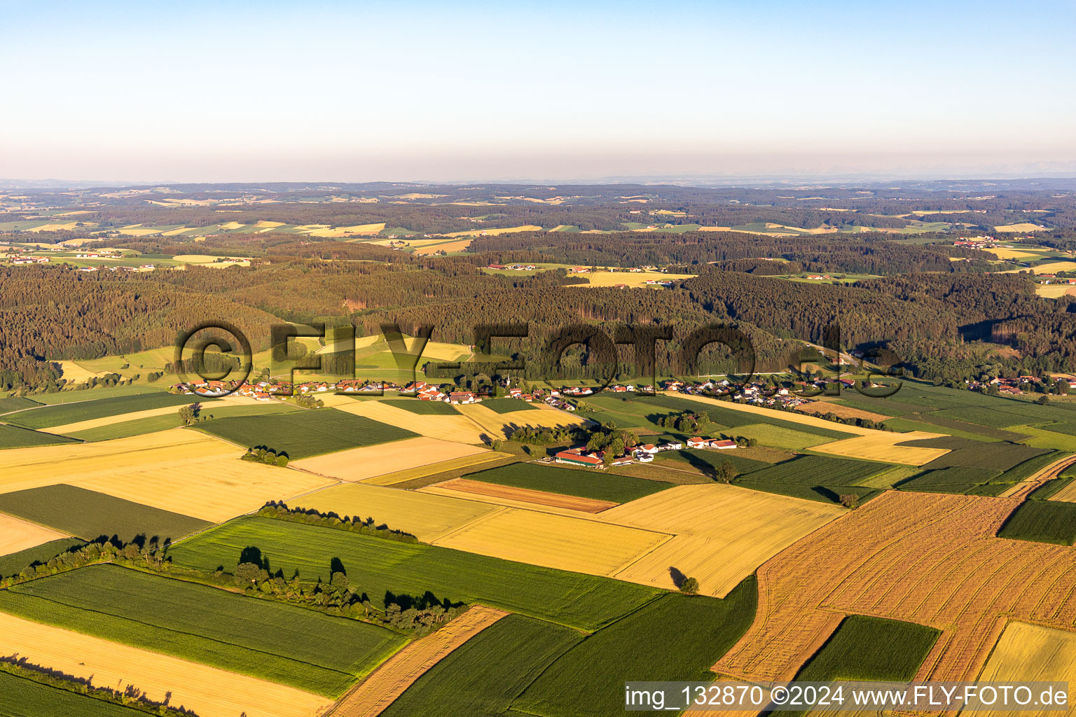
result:
[[[0,177],[1076,170],[1076,3],[3,2]]]

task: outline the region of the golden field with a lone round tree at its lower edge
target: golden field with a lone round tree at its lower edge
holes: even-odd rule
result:
[[[669,569],[676,568],[698,580],[700,593],[723,598],[766,560],[844,513],[837,505],[709,484],[676,486],[599,517],[675,533],[618,572],[619,579],[672,590]]]

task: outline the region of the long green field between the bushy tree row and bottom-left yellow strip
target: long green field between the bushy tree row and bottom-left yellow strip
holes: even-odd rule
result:
[[[0,610],[326,697],[407,642],[358,620],[116,565],[0,591]]]

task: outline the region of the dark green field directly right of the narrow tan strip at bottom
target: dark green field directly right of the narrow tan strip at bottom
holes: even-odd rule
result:
[[[575,630],[509,615],[435,664],[382,717],[492,717],[582,640]]]

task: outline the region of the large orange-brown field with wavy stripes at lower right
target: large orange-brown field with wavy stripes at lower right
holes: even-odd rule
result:
[[[714,671],[791,679],[845,615],[942,630],[916,679],[973,680],[1009,620],[1076,625],[1076,548],[996,537],[1019,504],[889,491],[759,569],[759,610]]]

